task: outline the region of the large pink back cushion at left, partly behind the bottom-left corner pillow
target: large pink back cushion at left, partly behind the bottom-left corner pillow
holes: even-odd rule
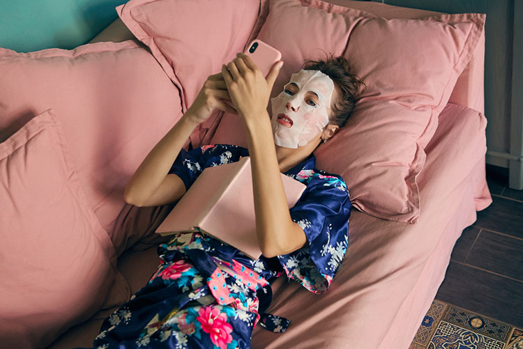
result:
[[[0,141],[52,108],[87,202],[112,234],[128,180],[182,115],[179,89],[137,40],[29,53],[0,48],[0,72]],[[120,254],[128,237],[111,238]]]

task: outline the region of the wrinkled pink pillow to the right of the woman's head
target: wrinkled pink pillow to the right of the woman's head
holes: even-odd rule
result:
[[[352,31],[344,57],[367,86],[347,127],[315,154],[319,168],[345,178],[359,210],[417,222],[423,148],[484,22],[478,13],[424,20],[367,17]]]

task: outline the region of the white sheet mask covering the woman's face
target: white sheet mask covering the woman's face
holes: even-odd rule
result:
[[[298,85],[298,88],[288,88],[287,85],[291,82]],[[328,124],[327,107],[331,107],[334,82],[319,70],[302,69],[292,74],[285,86],[284,91],[271,98],[274,143],[285,148],[298,148],[312,141]],[[291,93],[296,93],[289,94],[285,92],[286,89],[292,89]],[[318,95],[318,102],[314,98],[310,102],[308,91]],[[292,125],[287,127],[278,123],[278,114],[288,116]]]

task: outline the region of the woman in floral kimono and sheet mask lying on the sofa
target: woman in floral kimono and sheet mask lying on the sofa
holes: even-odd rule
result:
[[[306,64],[271,99],[269,118],[282,61],[265,78],[238,53],[207,78],[126,187],[128,203],[165,205],[180,199],[206,167],[250,156],[262,255],[252,260],[199,232],[173,235],[158,246],[158,272],[104,320],[93,348],[250,348],[257,323],[272,332],[289,326],[288,319],[264,313],[273,279],[285,273],[312,293],[327,290],[349,244],[351,203],[343,178],[315,169],[312,152],[344,126],[363,82],[342,57]],[[215,108],[243,118],[248,148],[185,151],[185,140]],[[307,186],[290,209],[280,173]]]

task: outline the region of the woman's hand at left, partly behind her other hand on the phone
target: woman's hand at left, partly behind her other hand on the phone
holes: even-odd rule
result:
[[[222,72],[209,75],[195,101],[192,102],[192,105],[185,114],[191,117],[196,123],[203,123],[206,121],[216,108],[238,115],[238,111],[223,100],[230,101],[231,97],[227,90],[225,79],[223,79]],[[230,103],[232,105],[232,102]]]

